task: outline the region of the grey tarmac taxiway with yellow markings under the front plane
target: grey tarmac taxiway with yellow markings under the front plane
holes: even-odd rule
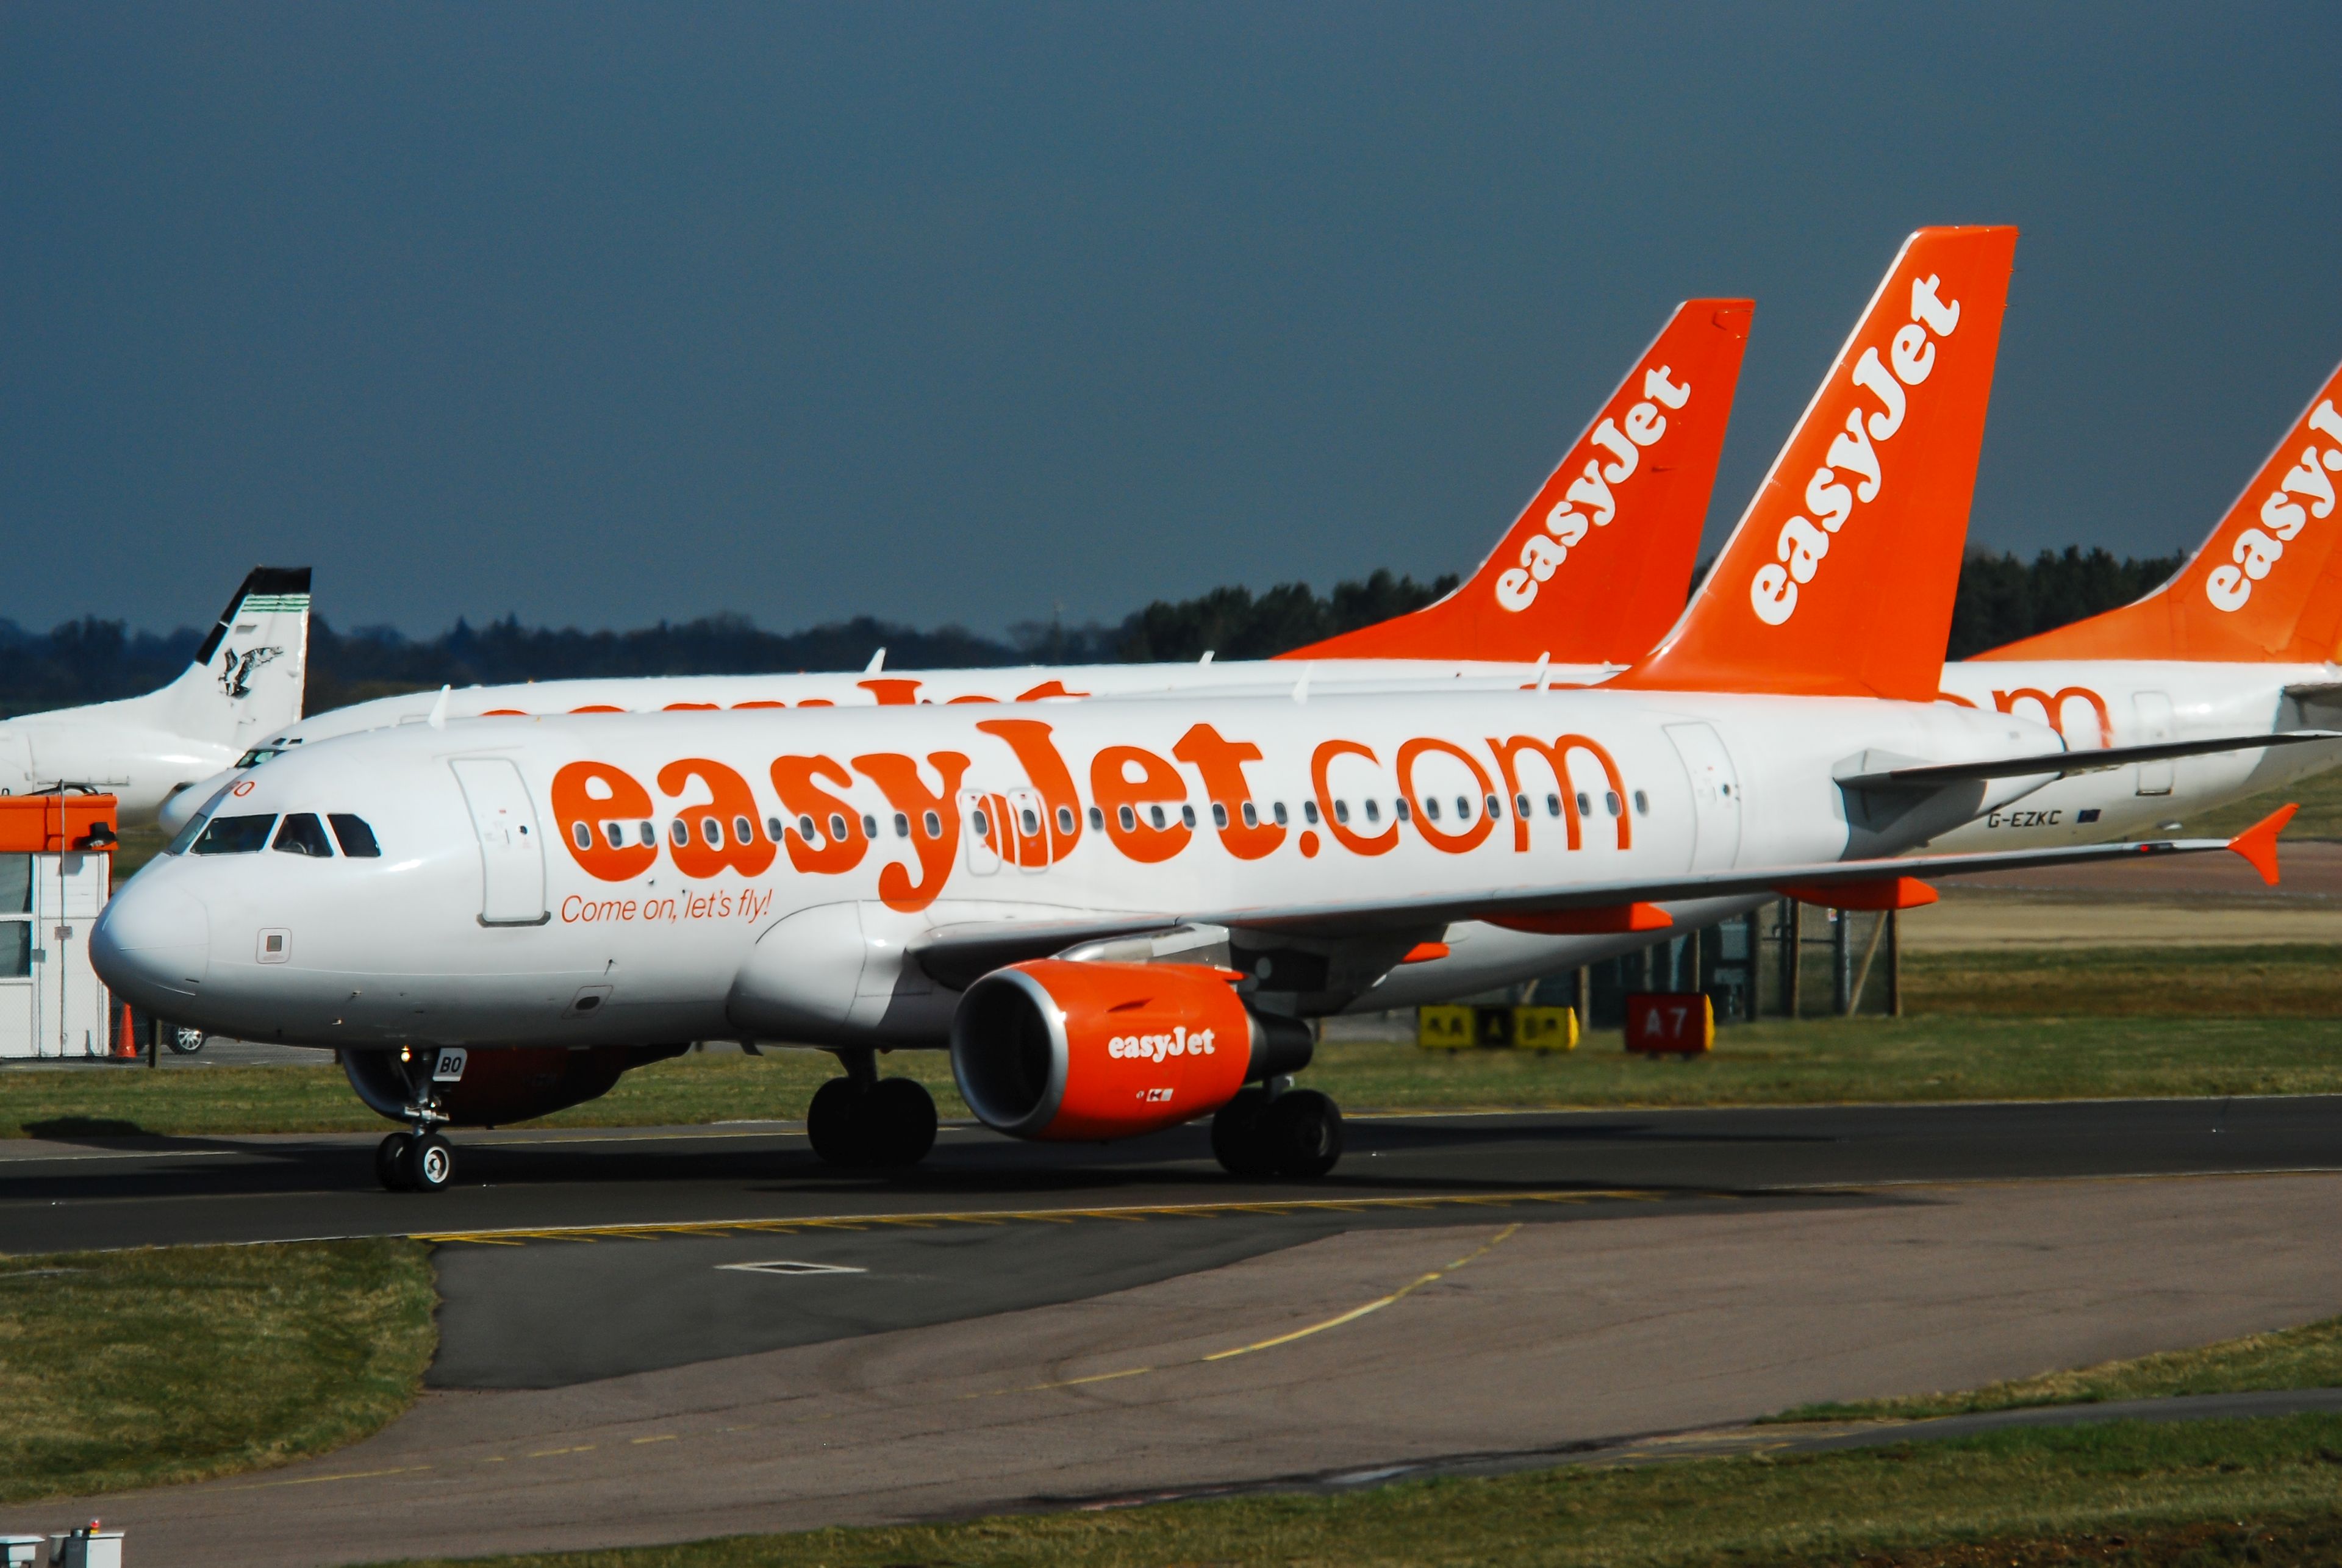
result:
[[[436,1198],[372,1191],[361,1137],[7,1144],[7,1252],[417,1233],[445,1308],[382,1435],[0,1531],[342,1563],[1735,1451],[1834,1437],[1738,1432],[1789,1404],[2342,1311],[2337,1098],[1349,1130],[1314,1184],[1230,1182],[1199,1130],[951,1128],[906,1180],[775,1123],[482,1133]]]

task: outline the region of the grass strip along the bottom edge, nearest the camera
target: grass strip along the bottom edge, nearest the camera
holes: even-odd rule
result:
[[[2110,1423],[1876,1451],[1417,1481],[1335,1498],[1220,1498],[473,1559],[478,1568],[2082,1561],[2342,1561],[2342,1418]]]

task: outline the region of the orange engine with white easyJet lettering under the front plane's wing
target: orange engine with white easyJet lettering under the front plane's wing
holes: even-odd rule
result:
[[[1309,1030],[1251,1013],[1239,978],[1208,964],[1009,964],[960,997],[951,1074],[977,1119],[1014,1137],[1192,1121],[1251,1079],[1309,1065]]]

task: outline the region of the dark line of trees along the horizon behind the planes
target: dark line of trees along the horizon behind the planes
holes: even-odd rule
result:
[[[2031,637],[2082,615],[2127,604],[2178,569],[2169,559],[2122,559],[2105,550],[2049,552],[2033,562],[2014,555],[1972,555],[1960,569],[1951,615],[1951,658]],[[988,665],[1185,662],[1267,658],[1431,604],[1457,578],[1433,583],[1377,571],[1363,583],[1335,583],[1316,594],[1307,583],[1281,583],[1260,594],[1215,587],[1197,599],[1157,599],[1119,625],[1016,625],[1005,639],[963,627],[920,632],[857,615],[803,632],[763,632],[745,615],[707,615],[637,632],[578,632],[497,620],[457,623],[452,632],[410,639],[389,627],[335,632],[326,618],[309,623],[309,711],[363,702],[400,690],[567,676],[759,674],[796,669],[862,669],[888,651],[895,669]],[[176,679],[201,634],[129,632],[119,620],[68,620],[52,632],[26,632],[0,620],[0,714],[28,714],[82,702],[129,697]]]

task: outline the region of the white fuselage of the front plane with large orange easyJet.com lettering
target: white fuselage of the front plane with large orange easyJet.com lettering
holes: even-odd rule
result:
[[[934,1046],[956,992],[904,948],[937,929],[1810,866],[1850,845],[1834,770],[2054,744],[1953,704],[1604,690],[400,725],[253,770],[204,826],[340,812],[379,859],[169,854],[117,894],[94,953],[141,1006],[295,1044]],[[1862,850],[1881,847],[1902,845]],[[1333,978],[1300,985],[1316,999],[1297,1011],[1466,995],[1651,941],[1314,929],[1297,945]],[[1450,953],[1401,962],[1419,941]]]

